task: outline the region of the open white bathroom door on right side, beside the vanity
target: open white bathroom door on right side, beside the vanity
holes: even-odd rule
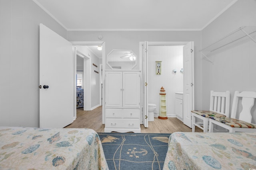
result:
[[[191,110],[194,110],[194,42],[183,47],[183,123],[191,126]]]

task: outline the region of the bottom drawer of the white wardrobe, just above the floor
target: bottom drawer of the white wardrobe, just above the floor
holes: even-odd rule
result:
[[[140,128],[140,119],[110,119],[105,121],[106,128]]]

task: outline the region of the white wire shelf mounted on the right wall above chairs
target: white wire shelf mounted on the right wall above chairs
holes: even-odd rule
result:
[[[225,45],[228,45],[230,43],[233,43],[234,41],[237,41],[245,36],[248,36],[252,41],[256,43],[256,40],[253,39],[250,34],[256,32],[256,26],[242,26],[239,27],[238,29],[232,31],[228,35],[222,37],[218,41],[204,47],[203,49],[200,50],[202,55],[206,57],[211,63],[213,63],[204,53],[203,51],[208,51],[208,52],[213,52],[217,49],[220,49],[221,47],[224,47]]]

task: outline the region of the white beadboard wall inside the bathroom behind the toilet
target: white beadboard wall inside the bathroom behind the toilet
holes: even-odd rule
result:
[[[162,61],[161,75],[156,75],[156,61]],[[162,86],[166,90],[167,116],[176,117],[175,92],[183,92],[182,68],[183,46],[148,46],[148,103],[156,104],[155,117],[159,115],[159,93]]]

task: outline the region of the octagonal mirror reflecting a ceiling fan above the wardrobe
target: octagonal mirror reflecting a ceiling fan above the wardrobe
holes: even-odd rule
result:
[[[137,65],[137,56],[131,50],[112,50],[107,55],[111,69],[132,70]]]

